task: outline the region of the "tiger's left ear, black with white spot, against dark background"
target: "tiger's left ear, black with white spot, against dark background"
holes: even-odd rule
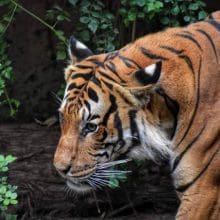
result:
[[[75,63],[93,55],[93,52],[85,44],[71,36],[69,40],[69,55],[72,62]]]

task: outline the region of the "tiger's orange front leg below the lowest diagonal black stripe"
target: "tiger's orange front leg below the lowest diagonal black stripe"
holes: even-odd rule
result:
[[[216,163],[216,164],[215,164]],[[176,220],[220,219],[220,175],[215,161],[181,196]]]

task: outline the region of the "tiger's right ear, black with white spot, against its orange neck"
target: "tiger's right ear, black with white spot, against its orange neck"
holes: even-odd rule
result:
[[[161,74],[162,62],[158,61],[157,63],[146,66],[143,69],[136,71],[133,75],[138,87],[150,86],[158,82]]]

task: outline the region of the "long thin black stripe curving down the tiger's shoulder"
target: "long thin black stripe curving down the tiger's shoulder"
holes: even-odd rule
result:
[[[198,110],[198,107],[199,107],[199,100],[200,100],[200,74],[201,74],[201,65],[202,65],[202,59],[200,57],[200,61],[199,61],[199,70],[198,70],[198,82],[197,82],[197,94],[196,94],[196,104],[195,104],[195,108],[193,110],[193,113],[192,113],[192,117],[189,121],[189,125],[187,127],[187,129],[185,130],[184,134],[183,134],[183,137],[181,138],[181,140],[179,141],[179,143],[176,145],[176,148],[182,143],[182,141],[185,139],[186,135],[188,134],[189,132],[189,129],[191,128],[192,126],[192,123],[194,121],[194,118],[196,116],[196,113],[197,113],[197,110]]]

